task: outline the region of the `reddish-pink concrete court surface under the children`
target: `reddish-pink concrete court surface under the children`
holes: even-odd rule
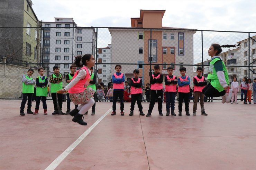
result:
[[[96,115],[84,116],[88,126],[72,122],[71,116],[19,115],[21,100],[0,100],[0,169],[41,170],[56,161],[56,170],[255,170],[256,104],[205,103],[205,112],[196,116],[158,116],[157,103],[152,117],[111,116],[112,103],[97,102]],[[117,103],[117,108],[120,103]],[[136,103],[137,104],[137,103]],[[198,103],[199,104],[199,103]],[[147,113],[149,103],[143,103]],[[71,107],[74,107],[73,103]],[[190,105],[192,115],[193,103]],[[32,102],[35,108],[35,102]],[[66,103],[63,103],[66,108]],[[177,114],[177,103],[175,113]],[[26,109],[26,107],[25,107]],[[183,104],[184,110],[184,104]],[[34,110],[33,110],[34,111]],[[63,111],[66,111],[63,109]],[[92,124],[104,117],[92,129]],[[90,128],[91,127],[91,128]],[[83,139],[86,130],[92,129]],[[90,130],[89,129],[89,130]],[[79,138],[73,151],[65,151]],[[48,167],[51,169],[51,167]]]

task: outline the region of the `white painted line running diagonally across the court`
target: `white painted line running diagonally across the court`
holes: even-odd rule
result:
[[[70,154],[70,152],[72,152],[73,149],[75,149],[75,147],[92,131],[92,129],[94,129],[95,126],[97,126],[97,124],[99,124],[99,122],[108,115],[111,110],[112,108],[103,114],[96,122],[94,122],[89,129],[87,129],[79,138],[77,138],[76,141],[74,141],[74,143],[72,143],[64,152],[62,152],[62,154],[60,154],[58,158],[56,158],[47,168],[45,168],[45,170],[54,170],[68,156],[68,154]]]

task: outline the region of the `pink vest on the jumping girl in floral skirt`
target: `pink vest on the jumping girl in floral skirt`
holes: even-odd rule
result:
[[[72,78],[72,80],[77,76],[78,71],[85,69],[86,71],[86,76],[84,79],[79,80],[73,87],[71,87],[68,90],[68,93],[81,93],[83,92],[86,88],[84,88],[84,84],[86,84],[86,82],[89,80],[90,81],[90,72],[88,70],[88,68],[86,66],[82,67],[81,69],[77,70]]]

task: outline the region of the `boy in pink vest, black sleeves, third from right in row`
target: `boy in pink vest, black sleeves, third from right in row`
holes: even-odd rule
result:
[[[170,106],[171,106],[171,115],[176,116],[174,113],[174,104],[176,96],[176,87],[177,87],[177,77],[173,76],[173,68],[167,68],[168,75],[164,78],[165,82],[165,96],[166,96],[166,114],[165,116],[170,116]]]

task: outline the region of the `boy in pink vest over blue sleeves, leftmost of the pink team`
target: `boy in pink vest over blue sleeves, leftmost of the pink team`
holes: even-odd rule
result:
[[[124,116],[124,81],[125,81],[125,75],[121,73],[122,66],[120,64],[117,64],[116,67],[116,73],[112,75],[112,82],[114,83],[114,91],[113,91],[113,111],[111,115],[116,115],[116,103],[117,98],[120,100],[120,109],[121,109],[121,116]]]

